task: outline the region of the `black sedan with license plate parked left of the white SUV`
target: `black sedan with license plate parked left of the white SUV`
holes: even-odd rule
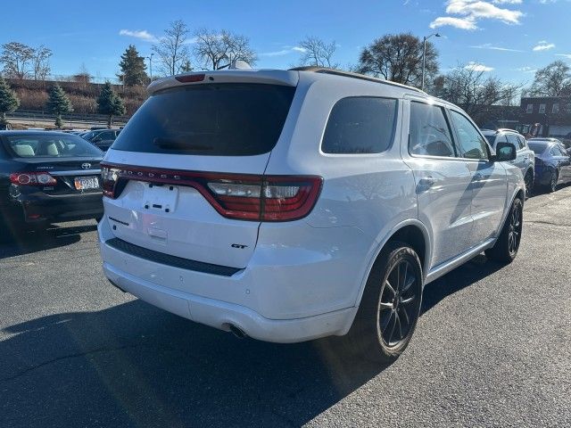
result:
[[[79,136],[0,132],[0,215],[8,231],[101,218],[103,152]],[[0,232],[0,235],[6,235]]]

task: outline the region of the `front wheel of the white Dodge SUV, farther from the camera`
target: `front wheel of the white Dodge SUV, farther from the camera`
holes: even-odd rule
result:
[[[508,218],[506,218],[498,240],[492,248],[484,251],[488,259],[501,263],[511,263],[516,259],[519,243],[521,243],[523,216],[524,202],[517,197],[511,204]]]

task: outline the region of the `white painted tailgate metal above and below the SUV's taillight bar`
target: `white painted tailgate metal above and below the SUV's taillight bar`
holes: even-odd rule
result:
[[[123,153],[119,158],[117,151],[110,153],[110,159],[126,159]],[[160,154],[145,159],[147,156],[151,157],[149,154],[144,154],[143,159],[139,156],[140,163],[148,165],[152,161],[157,168],[143,169],[145,177],[129,179],[117,199],[103,198],[106,221],[112,226],[113,235],[128,243],[184,259],[245,268],[256,245],[260,222],[223,217],[203,193],[190,185],[157,183],[153,178],[173,170],[173,159]],[[256,170],[261,174],[269,153],[249,157],[240,164],[233,158],[178,158],[175,160],[179,162],[178,166],[193,165],[194,170],[208,165],[212,171],[250,173]],[[169,169],[167,165],[170,165]],[[132,176],[137,176],[137,168],[129,170],[134,171]],[[148,177],[149,174],[153,177]]]

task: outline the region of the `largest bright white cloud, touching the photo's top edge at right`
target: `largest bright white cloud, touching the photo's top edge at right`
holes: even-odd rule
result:
[[[524,13],[517,10],[506,9],[495,4],[521,4],[521,0],[448,0],[446,13],[454,16],[441,16],[430,23],[430,28],[435,29],[443,26],[456,27],[457,29],[477,29],[480,20],[496,20],[506,24],[519,24]]]

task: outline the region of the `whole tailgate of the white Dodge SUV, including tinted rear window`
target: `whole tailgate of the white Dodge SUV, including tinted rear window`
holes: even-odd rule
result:
[[[128,121],[103,164],[105,214],[128,243],[245,268],[260,226],[261,177],[295,87],[213,76],[163,87]]]

